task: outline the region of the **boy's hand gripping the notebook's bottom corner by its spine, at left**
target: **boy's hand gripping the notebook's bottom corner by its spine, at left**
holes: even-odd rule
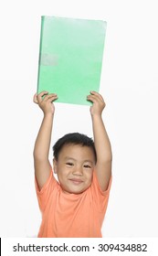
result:
[[[43,98],[43,96],[45,96]],[[42,91],[39,94],[34,95],[34,102],[38,104],[38,106],[41,108],[41,110],[44,112],[44,114],[55,112],[55,106],[52,103],[53,101],[57,100],[58,96],[56,93],[50,93],[48,94],[47,91]]]

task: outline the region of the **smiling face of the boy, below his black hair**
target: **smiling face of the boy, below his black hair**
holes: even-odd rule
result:
[[[54,159],[54,172],[66,193],[79,194],[91,185],[95,157],[89,146],[64,145]]]

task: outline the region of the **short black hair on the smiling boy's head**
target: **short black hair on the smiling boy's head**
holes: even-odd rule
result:
[[[81,146],[89,146],[94,153],[95,163],[97,162],[97,154],[93,140],[87,135],[81,133],[68,133],[58,139],[57,143],[53,146],[54,157],[57,161],[61,149],[66,144],[79,144]]]

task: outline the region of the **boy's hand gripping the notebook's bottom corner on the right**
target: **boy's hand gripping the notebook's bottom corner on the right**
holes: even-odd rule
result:
[[[90,91],[90,95],[87,96],[87,100],[93,102],[93,105],[90,107],[91,115],[101,115],[101,112],[105,108],[105,102],[100,93]]]

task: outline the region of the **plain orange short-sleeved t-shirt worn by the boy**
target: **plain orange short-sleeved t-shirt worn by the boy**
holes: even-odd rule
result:
[[[111,180],[101,191],[95,172],[81,194],[66,194],[51,172],[37,199],[42,213],[38,238],[101,238],[101,226],[110,195]]]

